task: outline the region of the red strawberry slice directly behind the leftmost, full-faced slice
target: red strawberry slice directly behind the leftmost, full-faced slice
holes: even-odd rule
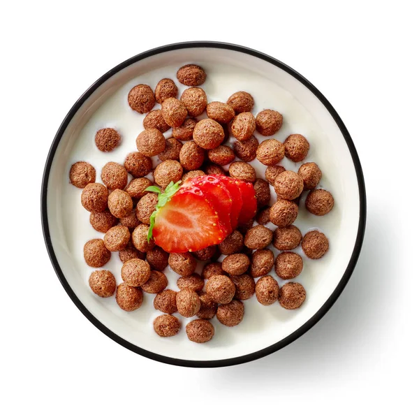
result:
[[[219,215],[221,223],[226,226],[227,233],[233,232],[230,221],[233,200],[228,189],[221,184],[218,178],[213,175],[202,175],[186,181],[183,186],[195,186],[202,190]]]

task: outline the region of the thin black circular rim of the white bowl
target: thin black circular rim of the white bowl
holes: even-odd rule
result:
[[[318,309],[316,314],[314,314],[314,316],[312,316],[311,319],[309,319],[306,323],[300,326],[300,328],[298,328],[293,333],[291,333],[291,335],[288,335],[287,337],[280,340],[279,342],[272,344],[269,347],[265,347],[265,349],[260,349],[259,351],[255,351],[251,354],[246,354],[244,356],[239,356],[239,357],[234,357],[234,358],[226,358],[223,360],[183,360],[179,358],[161,356],[160,354],[152,353],[151,351],[142,349],[138,346],[135,346],[131,342],[124,340],[122,337],[119,337],[118,335],[113,333],[109,328],[103,325],[103,323],[98,321],[98,319],[96,319],[96,317],[93,314],[91,314],[91,312],[89,312],[87,307],[85,307],[83,303],[80,301],[80,299],[75,295],[73,289],[71,289],[71,286],[68,284],[66,278],[64,277],[64,274],[57,261],[57,257],[54,254],[54,249],[52,247],[52,241],[51,241],[51,236],[50,236],[50,228],[49,228],[48,219],[47,219],[47,186],[48,186],[48,180],[50,176],[52,161],[54,159],[54,154],[57,150],[61,137],[64,134],[64,131],[66,130],[68,124],[71,122],[71,119],[73,119],[73,116],[82,106],[82,104],[89,98],[89,96],[91,96],[91,94],[100,85],[103,84],[103,82],[105,82],[110,77],[112,77],[112,75],[115,75],[115,73],[121,71],[127,66],[137,61],[140,61],[142,59],[145,59],[147,57],[151,57],[152,55],[161,54],[163,52],[168,52],[172,50],[181,50],[184,48],[219,48],[223,50],[244,52],[245,54],[249,54],[253,57],[257,57],[257,58],[263,59],[264,61],[270,62],[270,64],[273,64],[274,66],[277,66],[283,69],[284,71],[292,75],[294,78],[299,80],[321,101],[321,103],[323,103],[323,105],[328,110],[330,115],[332,115],[332,118],[335,120],[337,126],[339,126],[339,129],[346,140],[346,144],[348,145],[349,152],[351,152],[353,164],[355,166],[355,173],[358,179],[358,188],[359,188],[359,194],[360,194],[360,219],[358,223],[357,238],[355,240],[355,245],[353,247],[353,253],[351,255],[351,259],[348,263],[346,271],[344,272],[344,275],[341,277],[339,284],[337,284],[335,291],[333,291],[333,293],[330,295],[328,300],[326,300],[323,306],[320,309]],[[48,153],[48,156],[47,156],[47,161],[45,163],[45,169],[43,173],[42,187],[41,187],[41,219],[42,219],[43,235],[45,239],[45,245],[47,247],[47,252],[50,256],[50,260],[52,262],[55,272],[57,273],[59,281],[64,286],[64,289],[66,290],[68,296],[70,296],[71,300],[73,300],[73,302],[78,307],[78,309],[80,309],[80,312],[82,312],[82,314],[84,314],[84,316],[86,316],[87,319],[89,319],[89,321],[91,321],[91,323],[94,324],[94,326],[96,326],[99,330],[105,333],[105,335],[110,337],[115,342],[126,347],[126,349],[134,351],[135,353],[145,356],[147,358],[152,358],[153,360],[160,361],[161,363],[181,365],[184,367],[224,367],[228,365],[247,363],[249,361],[256,360],[257,358],[267,356],[268,354],[271,354],[274,351],[282,349],[283,347],[286,347],[288,344],[290,344],[294,340],[297,340],[298,337],[306,333],[307,330],[312,328],[318,321],[320,321],[320,319],[326,314],[326,312],[328,312],[330,307],[332,307],[332,305],[335,303],[337,298],[339,298],[341,292],[344,290],[344,287],[348,283],[348,280],[351,277],[353,269],[355,268],[355,265],[358,261],[358,257],[360,255],[360,251],[362,247],[362,241],[364,239],[365,224],[367,220],[367,198],[366,198],[366,193],[365,193],[365,182],[364,182],[364,176],[362,174],[362,167],[361,167],[360,159],[358,157],[358,153],[355,150],[355,145],[353,144],[353,140],[351,136],[349,135],[348,130],[346,129],[346,126],[344,125],[344,122],[342,122],[341,118],[337,114],[335,108],[332,107],[330,102],[327,99],[325,99],[325,96],[323,96],[323,94],[321,94],[321,92],[316,87],[314,87],[314,85],[312,85],[311,82],[309,82],[302,75],[300,75],[300,73],[297,73],[297,71],[294,71],[293,68],[287,66],[283,62],[278,61],[277,59],[274,59],[267,54],[263,54],[262,52],[252,50],[251,48],[243,47],[242,45],[235,45],[235,44],[230,44],[230,43],[219,43],[215,41],[189,41],[185,43],[174,43],[174,44],[169,44],[169,45],[163,45],[161,47],[153,48],[152,50],[142,52],[138,55],[135,55],[135,57],[131,57],[127,59],[126,61],[115,66],[115,68],[112,68],[110,71],[102,75],[101,78],[99,78],[96,82],[94,82],[94,84],[91,85],[91,87],[89,87],[89,89],[87,89],[87,91],[84,92],[82,96],[80,96],[80,99],[78,99],[78,101],[73,105],[71,110],[68,112],[68,114],[64,118],[64,121],[61,123],[61,126],[59,126],[57,134],[55,135],[52,145],[50,147],[50,152]]]

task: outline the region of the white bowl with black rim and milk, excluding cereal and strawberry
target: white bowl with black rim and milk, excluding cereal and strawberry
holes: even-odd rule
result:
[[[226,101],[233,92],[246,90],[256,101],[255,114],[264,108],[279,110],[284,115],[284,125],[274,137],[284,141],[290,133],[307,136],[311,148],[304,161],[318,163],[323,171],[320,187],[330,190],[335,197],[335,207],[325,217],[305,211],[304,197],[300,203],[295,224],[302,233],[319,228],[330,240],[330,251],[317,261],[305,258],[301,249],[297,249],[303,256],[304,270],[294,280],[301,282],[307,291],[302,307],[291,311],[278,303],[265,307],[253,296],[244,301],[245,316],[240,325],[227,328],[212,319],[216,335],[206,344],[189,342],[184,330],[175,337],[158,337],[152,328],[152,321],[159,314],[152,305],[152,295],[145,294],[142,307],[128,313],[119,309],[115,298],[98,298],[91,292],[87,280],[93,269],[84,263],[82,248],[84,242],[101,238],[102,234],[89,225],[89,214],[80,205],[80,189],[68,182],[68,170],[75,161],[92,163],[96,167],[96,181],[100,181],[103,164],[123,162],[128,152],[135,151],[135,138],[143,129],[145,115],[129,108],[126,101],[129,89],[139,83],[154,88],[161,78],[175,80],[177,68],[188,63],[205,68],[207,80],[203,88],[209,101]],[[179,89],[182,92],[184,87]],[[96,149],[94,134],[107,126],[116,127],[123,142],[114,152],[105,154]],[[170,131],[166,133],[170,136]],[[258,176],[263,177],[264,166],[257,161],[252,164]],[[288,170],[300,166],[287,159],[281,164]],[[61,124],[47,158],[42,186],[47,250],[61,284],[84,316],[103,333],[138,354],[192,367],[233,365],[260,358],[293,342],[314,326],[351,276],[362,245],[365,217],[360,161],[332,105],[292,68],[260,52],[226,43],[166,45],[138,54],[103,75],[75,103]],[[104,266],[112,270],[117,282],[121,282],[120,267],[117,253]],[[167,275],[170,288],[176,289],[175,272],[169,270]]]

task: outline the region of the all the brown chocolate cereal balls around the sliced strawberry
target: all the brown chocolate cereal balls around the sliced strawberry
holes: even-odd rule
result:
[[[187,318],[196,316],[198,319],[186,325],[186,334],[198,343],[212,339],[210,319],[214,316],[226,326],[239,324],[244,316],[243,301],[255,293],[262,305],[278,300],[286,309],[302,305],[306,293],[300,283],[280,287],[268,273],[274,269],[283,280],[300,275],[302,257],[292,252],[300,244],[311,259],[328,252],[328,238],[323,233],[314,230],[303,237],[293,225],[302,191],[309,190],[305,207],[312,214],[328,214],[334,205],[330,192],[316,189],[322,177],[316,163],[302,163],[297,173],[279,165],[284,156],[294,162],[304,160],[309,151],[307,139],[292,134],[284,143],[274,138],[259,143],[253,133],[273,136],[281,129],[282,115],[266,109],[254,117],[253,97],[244,91],[231,95],[226,103],[208,103],[204,89],[199,87],[206,76],[200,66],[179,68],[177,80],[188,86],[179,99],[177,85],[168,78],[161,80],[154,92],[149,85],[133,87],[128,94],[129,106],[147,114],[145,130],[136,140],[137,151],[128,153],[124,163],[106,163],[101,170],[102,184],[96,183],[96,170],[89,163],[79,161],[70,170],[71,183],[83,189],[81,201],[91,213],[91,226],[105,234],[103,239],[84,245],[87,265],[102,268],[111,252],[119,252],[122,261],[122,284],[117,286],[109,270],[97,269],[89,277],[91,290],[103,298],[116,291],[117,304],[127,312],[142,305],[143,292],[152,293],[155,309],[163,312],[154,320],[156,333],[162,337],[176,335],[181,328],[173,315],[177,312]],[[154,109],[156,103],[160,109]],[[205,113],[204,119],[196,119]],[[163,133],[170,128],[171,136],[166,138]],[[95,143],[102,152],[110,152],[121,138],[116,129],[101,129]],[[155,167],[152,156],[158,156]],[[265,180],[257,178],[248,163],[254,159],[266,166]],[[149,218],[158,197],[145,189],[152,185],[165,189],[170,182],[205,174],[228,174],[253,183],[257,224],[251,220],[220,245],[194,253],[168,254],[153,240],[147,242]],[[277,194],[272,207],[270,185]],[[274,231],[265,226],[269,221],[277,226]],[[268,249],[270,245],[280,251],[276,258]],[[167,289],[168,265],[179,275],[179,291]]]

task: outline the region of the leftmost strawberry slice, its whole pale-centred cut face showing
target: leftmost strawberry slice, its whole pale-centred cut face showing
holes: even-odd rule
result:
[[[166,252],[199,251],[227,236],[219,214],[198,187],[182,187],[159,208],[152,231],[154,242]]]

